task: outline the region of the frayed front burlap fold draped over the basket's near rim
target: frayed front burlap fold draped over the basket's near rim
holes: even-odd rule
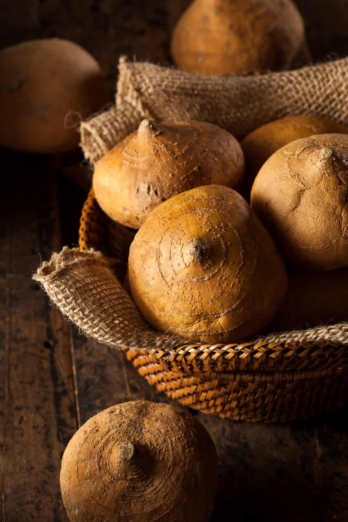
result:
[[[185,344],[183,338],[159,334],[151,328],[100,252],[85,253],[64,247],[49,262],[42,263],[33,279],[83,334],[113,348],[170,351]],[[348,323],[269,334],[253,340],[255,343],[302,341],[348,345]],[[195,344],[192,340],[187,343]]]

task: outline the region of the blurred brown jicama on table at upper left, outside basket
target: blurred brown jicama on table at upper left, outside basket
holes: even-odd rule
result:
[[[77,127],[106,102],[98,62],[74,42],[31,40],[0,51],[0,145],[53,153],[76,148]]]

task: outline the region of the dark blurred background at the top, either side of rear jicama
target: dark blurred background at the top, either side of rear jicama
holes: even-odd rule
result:
[[[116,78],[119,54],[170,61],[169,35],[189,0],[2,0],[0,48],[33,38],[79,43]],[[295,0],[315,61],[348,54],[348,0]]]

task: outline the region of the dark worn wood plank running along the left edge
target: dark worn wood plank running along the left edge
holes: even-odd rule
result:
[[[69,328],[31,274],[61,250],[54,170],[47,158],[3,153],[1,488],[3,522],[67,520],[59,490],[76,430]],[[3,232],[4,228],[0,227]]]

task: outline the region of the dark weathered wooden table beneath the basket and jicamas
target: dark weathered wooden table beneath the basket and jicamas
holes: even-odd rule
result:
[[[169,30],[187,3],[139,0],[126,7],[116,0],[5,0],[0,44],[71,38],[93,52],[113,87],[120,53],[169,60]],[[338,40],[341,33],[342,24]],[[77,428],[118,402],[166,398],[147,385],[123,352],[80,337],[31,280],[41,259],[63,244],[77,243],[85,192],[64,175],[64,162],[74,158],[9,151],[1,158],[2,186],[8,187],[1,191],[0,207],[2,522],[65,522],[59,468]],[[219,454],[212,521],[346,521],[347,413],[345,408],[323,418],[271,425],[193,411]]]

